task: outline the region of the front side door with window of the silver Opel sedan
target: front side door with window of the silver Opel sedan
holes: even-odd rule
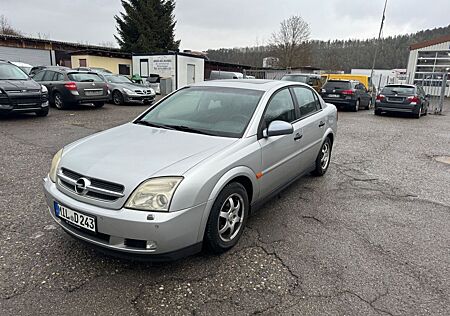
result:
[[[260,138],[262,170],[260,170],[260,193],[267,196],[300,173],[299,153],[301,147],[298,139],[303,130],[298,124],[299,112],[289,88],[275,92],[267,104],[261,130],[267,128],[272,121],[281,120],[292,123],[294,133],[282,136]]]

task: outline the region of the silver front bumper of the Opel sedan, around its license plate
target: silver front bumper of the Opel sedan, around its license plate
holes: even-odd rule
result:
[[[177,251],[185,256],[186,249],[192,252],[200,250],[199,229],[206,203],[178,212],[144,212],[126,208],[111,210],[68,197],[48,177],[44,178],[44,193],[50,215],[66,232],[101,248],[122,254],[167,254],[168,257],[176,257]],[[97,233],[76,228],[57,217],[55,201],[72,210],[95,216]],[[148,245],[153,246],[150,248]]]

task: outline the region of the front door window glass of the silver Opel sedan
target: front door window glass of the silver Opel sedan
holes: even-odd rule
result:
[[[289,89],[277,92],[266,108],[266,113],[264,113],[265,126],[269,126],[272,121],[276,120],[288,123],[296,120],[294,102]]]

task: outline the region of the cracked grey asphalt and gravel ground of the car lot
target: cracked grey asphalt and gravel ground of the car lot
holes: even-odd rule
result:
[[[41,185],[64,144],[144,109],[0,117],[1,315],[450,314],[450,112],[340,112],[325,177],[267,203],[222,256],[150,264],[69,237]]]

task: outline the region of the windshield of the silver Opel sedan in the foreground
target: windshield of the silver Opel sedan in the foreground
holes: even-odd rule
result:
[[[242,137],[263,91],[190,87],[165,99],[140,121],[146,125],[224,137]]]

